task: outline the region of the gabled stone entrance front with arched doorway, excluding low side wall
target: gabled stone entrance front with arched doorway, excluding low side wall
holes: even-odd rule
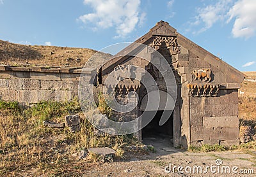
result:
[[[173,111],[170,108],[169,120],[159,126],[159,117],[164,110],[160,105],[150,124],[138,132],[138,138],[143,139],[149,133],[166,134],[173,139],[173,146],[184,147],[239,143],[237,91],[243,82],[243,73],[179,34],[167,22],[158,22],[135,42],[148,45],[161,53],[172,67],[177,84],[176,103]],[[127,48],[120,53],[125,50]],[[161,82],[161,74],[157,73],[157,69],[150,62],[140,57],[114,57],[106,62],[99,69],[99,85],[105,84],[108,74],[114,69],[125,70],[129,66],[146,69],[157,81],[158,87],[162,88],[163,96],[160,99],[163,99],[166,88]],[[138,117],[145,111],[143,105],[148,92],[136,81],[125,80],[122,81],[122,86],[115,88],[119,99],[122,100],[122,92],[132,89],[136,90],[140,100],[136,109],[130,114],[125,113],[123,117]],[[140,124],[141,122],[136,126],[140,127]]]

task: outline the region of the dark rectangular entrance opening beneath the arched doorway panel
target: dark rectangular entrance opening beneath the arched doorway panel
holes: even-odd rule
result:
[[[157,111],[152,121],[141,130],[144,143],[150,143],[150,141],[152,141],[151,143],[156,141],[159,143],[159,141],[164,141],[168,146],[173,146],[173,113],[170,111],[168,120],[163,125],[159,125],[163,112],[164,111]],[[153,113],[155,113],[155,111],[142,112],[142,125]]]

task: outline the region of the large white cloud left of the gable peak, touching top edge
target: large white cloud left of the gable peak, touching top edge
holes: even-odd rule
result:
[[[115,27],[116,38],[127,36],[145,19],[145,13],[140,14],[140,0],[84,0],[84,4],[91,6],[93,13],[81,15],[78,20],[92,23],[96,29]]]

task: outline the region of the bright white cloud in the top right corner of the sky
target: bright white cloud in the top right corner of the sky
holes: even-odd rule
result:
[[[256,1],[255,0],[239,0],[230,10],[228,22],[235,18],[232,29],[234,38],[244,37],[250,38],[254,36],[256,31]]]

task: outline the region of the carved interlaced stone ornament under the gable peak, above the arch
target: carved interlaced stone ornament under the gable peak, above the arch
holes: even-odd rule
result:
[[[176,36],[153,36],[152,48],[158,49],[159,47],[167,48],[171,55],[180,53],[180,46],[177,43]],[[148,48],[148,52],[150,52]]]

